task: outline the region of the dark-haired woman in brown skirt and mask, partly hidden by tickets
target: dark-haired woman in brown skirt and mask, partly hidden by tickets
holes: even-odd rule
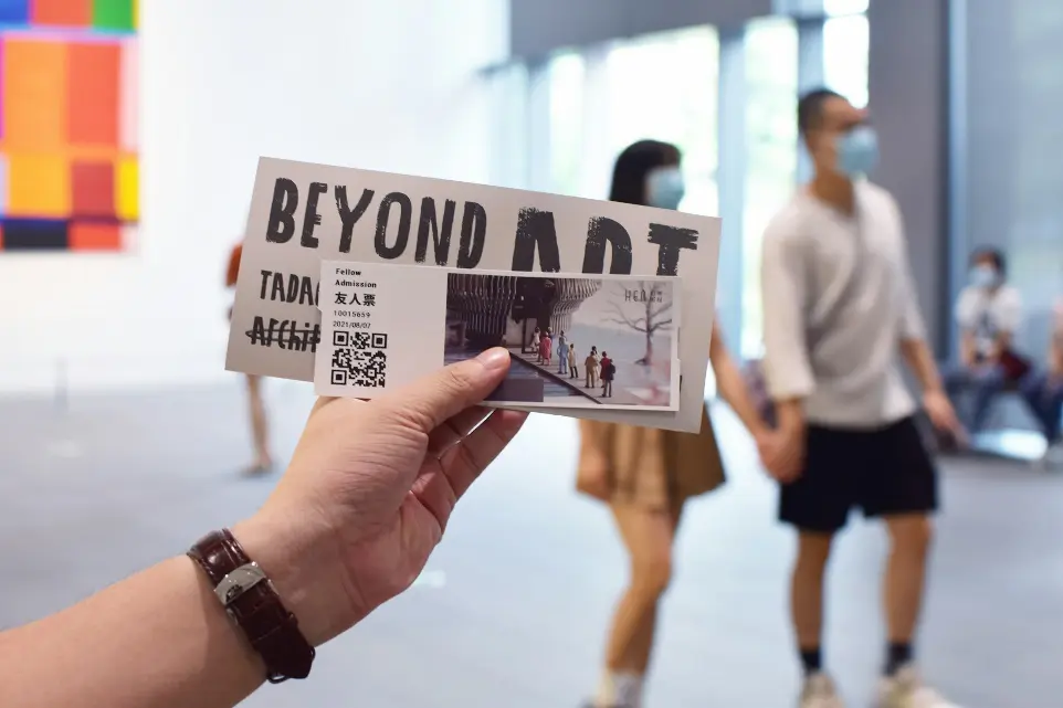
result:
[[[682,194],[680,151],[674,146],[641,141],[617,159],[612,201],[675,209]],[[588,382],[598,367],[596,355],[592,348],[585,362]],[[709,358],[723,399],[766,448],[771,434],[715,328]],[[641,708],[657,603],[672,577],[672,545],[683,505],[723,482],[723,463],[707,413],[703,412],[701,431],[694,434],[580,421],[577,486],[609,505],[631,568],[609,630],[593,708]]]

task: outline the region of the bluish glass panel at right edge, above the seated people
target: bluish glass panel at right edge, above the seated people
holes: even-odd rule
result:
[[[951,106],[954,120],[961,118],[954,130],[962,170],[954,272],[970,249],[1003,251],[1008,281],[1022,293],[1017,346],[1043,361],[1052,305],[1063,295],[1063,7],[969,2],[965,14]]]

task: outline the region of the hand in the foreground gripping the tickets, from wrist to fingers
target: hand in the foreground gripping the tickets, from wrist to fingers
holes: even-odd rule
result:
[[[233,528],[311,644],[420,574],[457,499],[527,418],[478,408],[508,368],[496,348],[372,401],[314,405],[276,489]]]

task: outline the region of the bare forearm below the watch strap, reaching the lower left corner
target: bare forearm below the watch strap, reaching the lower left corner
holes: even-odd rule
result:
[[[187,557],[0,634],[0,705],[228,708],[264,667]]]

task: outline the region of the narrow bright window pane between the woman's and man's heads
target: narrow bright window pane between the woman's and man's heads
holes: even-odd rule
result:
[[[743,212],[741,348],[759,357],[764,337],[760,244],[797,180],[798,30],[785,18],[746,28],[746,205]]]

